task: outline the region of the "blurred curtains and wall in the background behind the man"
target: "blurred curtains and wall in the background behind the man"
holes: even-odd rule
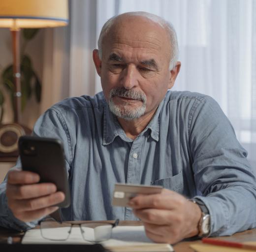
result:
[[[182,67],[173,90],[215,98],[256,169],[256,0],[69,0],[68,4],[69,25],[40,29],[26,47],[41,83],[41,100],[28,99],[24,125],[32,128],[41,113],[63,98],[101,91],[92,60],[101,27],[114,15],[147,11],[171,22],[177,32]],[[10,31],[0,29],[1,75],[10,63]],[[13,112],[1,81],[0,90],[2,123],[8,123]],[[12,165],[0,162],[0,181]]]

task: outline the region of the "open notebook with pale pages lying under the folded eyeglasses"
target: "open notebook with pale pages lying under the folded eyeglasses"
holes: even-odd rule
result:
[[[64,231],[59,228],[58,232]],[[69,238],[66,241],[51,241],[42,238],[39,229],[28,230],[22,244],[90,244],[84,241],[79,227],[72,227]],[[166,243],[154,243],[145,233],[144,226],[117,226],[113,228],[110,240],[100,243],[105,249],[112,252],[172,252],[171,245]]]

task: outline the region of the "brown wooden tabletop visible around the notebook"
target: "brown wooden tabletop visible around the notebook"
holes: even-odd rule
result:
[[[70,221],[70,222],[74,224],[78,224],[83,222],[95,222],[95,221]],[[141,225],[141,221],[120,221],[119,225]],[[11,236],[13,238],[14,243],[20,243],[23,235],[24,235],[24,232],[22,233],[15,232],[13,230],[0,227],[0,242],[6,242],[7,238]],[[214,239],[218,239],[218,238],[214,238]],[[234,241],[234,242],[256,241],[256,229],[235,233],[232,236],[222,236],[221,239],[227,240],[227,241]],[[175,252],[193,252],[193,250],[190,249],[190,244],[193,244],[193,243],[201,243],[201,241],[200,240],[181,241],[173,245],[173,248]]]

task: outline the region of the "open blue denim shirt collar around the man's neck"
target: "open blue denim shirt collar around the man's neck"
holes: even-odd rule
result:
[[[141,132],[141,134],[147,132],[150,129],[150,136],[155,140],[159,141],[159,115],[161,108],[163,106],[163,101],[160,102],[158,109],[149,122],[148,126]],[[108,145],[114,141],[116,136],[120,136],[126,142],[132,142],[133,140],[128,138],[125,134],[124,129],[118,123],[115,115],[109,110],[108,104],[105,103],[104,106],[104,125],[103,125],[103,145]]]

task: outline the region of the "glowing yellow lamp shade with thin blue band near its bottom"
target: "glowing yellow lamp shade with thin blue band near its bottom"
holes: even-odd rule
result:
[[[67,0],[0,0],[0,27],[16,30],[67,23]]]

